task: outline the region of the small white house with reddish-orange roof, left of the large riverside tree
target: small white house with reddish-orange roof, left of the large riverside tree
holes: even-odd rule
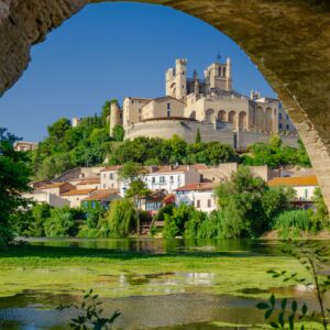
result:
[[[195,183],[175,189],[176,205],[193,205],[197,210],[211,212],[217,209],[213,183]]]

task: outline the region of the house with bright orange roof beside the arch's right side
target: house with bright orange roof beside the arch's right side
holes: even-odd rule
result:
[[[268,186],[287,186],[294,188],[296,191],[295,205],[307,209],[312,206],[312,196],[315,189],[318,187],[318,180],[315,175],[275,177],[268,182]]]

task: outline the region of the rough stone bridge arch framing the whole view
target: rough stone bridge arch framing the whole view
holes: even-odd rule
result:
[[[26,68],[32,45],[43,42],[51,30],[86,4],[107,1],[113,0],[25,0],[20,6],[16,6],[16,0],[1,1],[0,95]],[[195,15],[240,45],[272,85],[293,119],[330,207],[330,170],[324,170],[330,168],[330,79],[324,79],[330,73],[330,33],[324,30],[322,37],[316,40],[315,29],[304,29],[316,26],[316,22],[318,26],[329,26],[329,1],[260,0],[248,6],[252,13],[248,16],[244,1],[143,2],[165,4]],[[274,12],[279,11],[282,14],[274,21]],[[304,37],[297,40],[297,33],[302,30]],[[268,41],[266,48],[260,46],[261,40]]]

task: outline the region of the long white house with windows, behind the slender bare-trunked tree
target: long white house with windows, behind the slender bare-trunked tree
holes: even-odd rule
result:
[[[152,191],[173,194],[178,187],[200,180],[200,174],[190,165],[150,166],[143,175],[147,188]],[[127,182],[120,183],[120,195],[129,188]]]

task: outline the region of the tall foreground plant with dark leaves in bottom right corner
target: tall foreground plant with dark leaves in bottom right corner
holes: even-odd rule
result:
[[[310,321],[314,320],[317,323],[322,324],[323,329],[328,329],[329,323],[329,311],[330,309],[326,308],[324,305],[324,295],[330,288],[330,276],[321,275],[324,272],[326,263],[329,261],[329,248],[317,245],[316,242],[289,242],[288,248],[284,251],[286,254],[293,255],[297,258],[300,264],[309,273],[309,277],[299,276],[298,273],[289,273],[287,271],[274,271],[270,270],[267,273],[272,275],[273,278],[283,278],[283,282],[294,282],[299,285],[304,285],[307,288],[314,288],[312,292],[317,297],[319,305],[319,311],[310,312],[306,304],[299,305],[296,300],[293,300],[290,304],[289,310],[287,306],[289,305],[287,298],[282,299],[280,310],[275,320],[270,321],[270,324],[273,329],[297,329],[296,324],[300,330],[306,329],[304,322],[308,318]],[[261,310],[265,310],[265,319],[268,320],[272,316],[274,319],[276,298],[274,295],[270,298],[270,304],[258,302],[256,307]],[[300,326],[297,323],[300,321]]]

